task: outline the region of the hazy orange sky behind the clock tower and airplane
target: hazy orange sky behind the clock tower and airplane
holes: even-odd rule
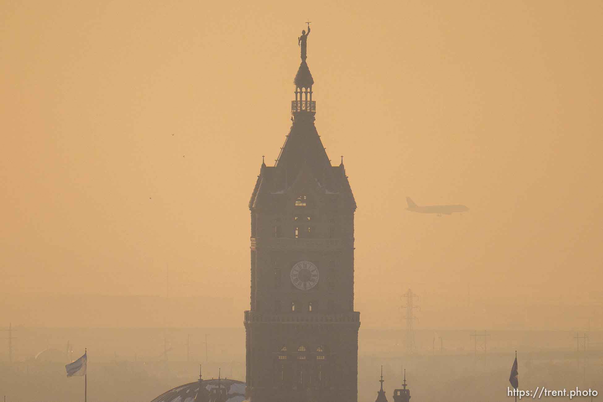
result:
[[[399,325],[408,287],[428,306],[601,301],[602,17],[601,1],[0,1],[2,292],[165,295],[169,266],[170,295],[232,298],[216,324],[242,325],[247,202],[288,133],[309,18],[316,127],[358,203],[363,327]]]

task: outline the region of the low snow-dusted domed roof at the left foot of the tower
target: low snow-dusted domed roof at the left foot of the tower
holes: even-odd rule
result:
[[[245,383],[237,380],[203,380],[188,383],[170,389],[151,402],[193,402],[199,391],[199,386],[204,386],[209,392],[209,400],[215,400],[215,392],[218,388],[226,389],[226,402],[242,402],[245,400]]]

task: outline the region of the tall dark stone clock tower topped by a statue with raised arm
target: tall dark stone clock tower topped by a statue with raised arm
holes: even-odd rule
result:
[[[247,398],[356,402],[354,212],[346,170],[332,166],[314,125],[314,80],[301,64],[292,125],[251,194],[251,306],[245,312]],[[302,43],[303,42],[303,43]]]

